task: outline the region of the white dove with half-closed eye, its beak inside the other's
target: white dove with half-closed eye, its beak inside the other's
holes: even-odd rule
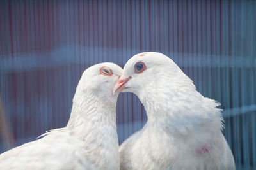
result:
[[[122,68],[105,62],[84,71],[66,127],[0,155],[0,169],[120,169],[113,87]]]

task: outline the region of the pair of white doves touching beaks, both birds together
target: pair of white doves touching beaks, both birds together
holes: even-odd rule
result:
[[[147,124],[119,148],[116,101],[132,92]],[[124,66],[104,62],[84,71],[66,127],[0,155],[0,169],[235,169],[216,101],[157,52]]]

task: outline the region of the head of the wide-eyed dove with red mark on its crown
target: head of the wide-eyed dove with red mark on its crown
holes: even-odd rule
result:
[[[143,99],[152,90],[175,90],[180,83],[186,83],[184,79],[189,78],[166,55],[157,52],[139,53],[125,64],[124,72],[115,85],[113,94],[121,91],[133,92]],[[195,89],[191,80],[188,83]]]

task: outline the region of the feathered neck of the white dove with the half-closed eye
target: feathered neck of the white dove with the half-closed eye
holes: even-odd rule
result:
[[[85,138],[89,132],[116,133],[116,100],[117,96],[108,98],[106,94],[96,90],[81,90],[77,87],[67,124],[68,129],[81,138]]]

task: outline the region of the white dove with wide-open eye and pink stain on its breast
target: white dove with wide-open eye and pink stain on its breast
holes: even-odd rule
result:
[[[120,169],[235,169],[220,104],[202,96],[166,55],[134,55],[113,89],[136,94],[147,124],[119,148]]]

